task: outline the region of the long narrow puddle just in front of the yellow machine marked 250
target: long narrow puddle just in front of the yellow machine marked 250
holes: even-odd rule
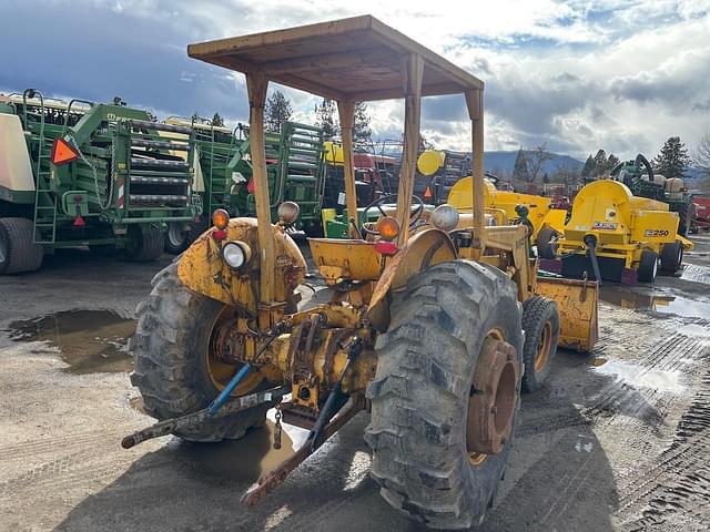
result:
[[[620,308],[646,309],[684,317],[710,318],[710,303],[697,301],[680,296],[640,294],[628,288],[610,286],[601,288],[599,299]]]

